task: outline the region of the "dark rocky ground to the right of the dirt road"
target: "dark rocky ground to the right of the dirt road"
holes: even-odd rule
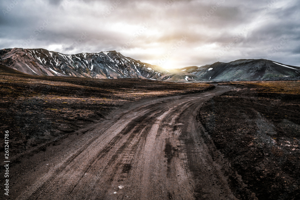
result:
[[[238,199],[298,200],[300,81],[232,85],[237,88],[208,100],[198,115],[212,156],[230,163]]]

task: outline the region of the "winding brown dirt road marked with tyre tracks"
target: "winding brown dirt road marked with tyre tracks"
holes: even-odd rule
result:
[[[124,106],[20,158],[9,199],[235,199],[196,121],[202,103],[232,88]]]

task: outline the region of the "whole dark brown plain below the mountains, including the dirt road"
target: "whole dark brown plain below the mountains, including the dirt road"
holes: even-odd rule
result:
[[[300,81],[211,85],[5,68],[0,88],[11,158],[10,196],[1,199],[300,196]]]

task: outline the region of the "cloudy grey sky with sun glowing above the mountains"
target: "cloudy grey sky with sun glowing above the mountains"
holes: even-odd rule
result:
[[[165,68],[265,58],[300,66],[297,0],[2,0],[0,49],[116,50]]]

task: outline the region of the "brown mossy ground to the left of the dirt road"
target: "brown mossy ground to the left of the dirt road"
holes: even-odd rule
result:
[[[212,89],[201,83],[145,79],[29,76],[0,70],[0,127],[10,131],[10,156],[103,120],[126,103]],[[4,138],[0,148],[4,151]]]

